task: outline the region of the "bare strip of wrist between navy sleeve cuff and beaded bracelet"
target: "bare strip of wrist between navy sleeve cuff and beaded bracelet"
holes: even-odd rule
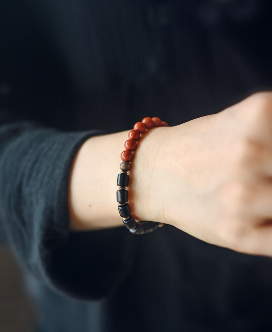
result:
[[[114,197],[120,147],[128,132],[91,137],[80,147],[71,169],[69,185],[72,230],[98,230],[123,225]]]

